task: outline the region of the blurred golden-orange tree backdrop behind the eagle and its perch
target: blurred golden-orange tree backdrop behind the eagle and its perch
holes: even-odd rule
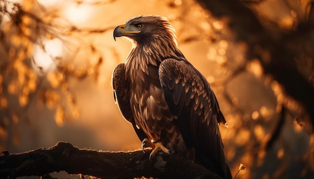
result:
[[[140,148],[110,83],[131,44],[114,41],[112,31],[133,16],[156,14],[169,18],[179,48],[218,98],[229,125],[220,130],[232,174],[243,163],[237,178],[313,178],[311,111],[265,64],[278,59],[278,50],[292,49],[282,53],[280,64],[288,61],[313,86],[314,35],[308,24],[314,2],[211,2],[0,0],[0,149],[24,152],[58,141],[96,150]],[[225,12],[224,5],[232,3],[234,10]],[[260,26],[243,16],[245,10],[237,11],[242,6]],[[283,77],[291,81],[290,74]]]

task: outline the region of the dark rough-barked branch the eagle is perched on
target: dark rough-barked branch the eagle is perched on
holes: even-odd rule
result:
[[[160,152],[149,163],[149,152],[103,152],[79,149],[67,142],[19,154],[3,152],[0,177],[38,175],[65,170],[69,174],[85,174],[101,178],[221,178],[184,157]]]

